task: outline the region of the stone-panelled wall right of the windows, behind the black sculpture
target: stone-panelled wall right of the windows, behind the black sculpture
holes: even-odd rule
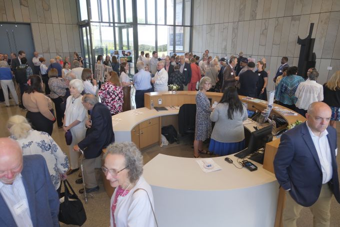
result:
[[[339,0],[193,0],[192,52],[267,60],[268,90],[283,56],[297,66],[300,45],[314,23],[312,38],[323,84],[340,70]],[[331,66],[332,70],[327,70]]]

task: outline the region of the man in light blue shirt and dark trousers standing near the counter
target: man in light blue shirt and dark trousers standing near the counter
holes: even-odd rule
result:
[[[133,85],[136,89],[134,100],[136,102],[136,108],[144,107],[144,93],[152,92],[151,89],[151,74],[144,70],[144,63],[142,61],[137,62],[138,73],[133,76]]]

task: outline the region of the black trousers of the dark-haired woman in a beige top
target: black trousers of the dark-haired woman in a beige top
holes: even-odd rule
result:
[[[32,129],[52,135],[54,122],[45,118],[40,112],[27,111],[26,119],[32,125]]]

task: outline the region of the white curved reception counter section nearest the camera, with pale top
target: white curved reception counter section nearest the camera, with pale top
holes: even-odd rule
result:
[[[240,167],[236,157],[228,155]],[[144,166],[151,185],[158,225],[272,227],[278,183],[255,162],[257,170],[237,169],[212,158],[221,170],[204,173],[195,159],[158,154]]]

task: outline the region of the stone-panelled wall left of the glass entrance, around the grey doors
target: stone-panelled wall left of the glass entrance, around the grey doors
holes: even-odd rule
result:
[[[30,23],[35,51],[46,60],[81,55],[76,0],[0,0],[0,22]],[[49,63],[47,61],[46,63]]]

